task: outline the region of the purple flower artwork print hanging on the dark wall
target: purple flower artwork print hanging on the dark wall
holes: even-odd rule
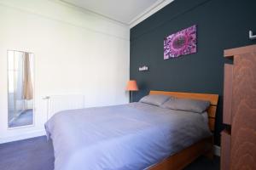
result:
[[[196,53],[196,26],[178,31],[164,40],[164,59]]]

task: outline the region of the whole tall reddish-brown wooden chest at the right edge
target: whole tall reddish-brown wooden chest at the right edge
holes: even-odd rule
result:
[[[256,45],[224,50],[221,170],[256,170]]]

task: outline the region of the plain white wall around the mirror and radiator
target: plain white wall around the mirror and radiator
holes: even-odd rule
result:
[[[128,26],[53,0],[0,0],[0,23],[0,143],[44,133],[45,95],[84,94],[88,107],[128,102]],[[8,130],[8,49],[35,54],[33,127]]]

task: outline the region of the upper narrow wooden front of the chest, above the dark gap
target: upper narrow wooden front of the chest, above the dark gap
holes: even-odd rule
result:
[[[233,65],[224,65],[224,106],[223,106],[223,123],[231,124],[232,116],[232,78]]]

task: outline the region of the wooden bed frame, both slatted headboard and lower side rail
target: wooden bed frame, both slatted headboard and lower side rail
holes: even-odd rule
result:
[[[180,92],[165,92],[165,91],[150,91],[149,94],[161,94],[169,95],[183,99],[201,99],[211,102],[211,106],[208,109],[208,125],[212,133],[215,127],[215,116],[218,104],[218,94],[193,94],[193,93],[180,93]],[[189,146],[188,148],[181,150],[177,154],[174,154],[163,161],[149,167],[150,170],[179,170],[183,169],[192,161],[201,155],[209,158],[213,157],[213,137],[202,139]]]

